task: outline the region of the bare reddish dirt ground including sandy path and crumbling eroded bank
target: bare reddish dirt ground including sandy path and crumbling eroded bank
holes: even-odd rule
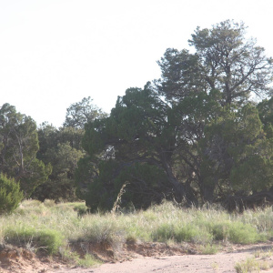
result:
[[[106,263],[93,268],[76,268],[57,259],[38,257],[24,248],[8,247],[0,251],[0,273],[227,273],[236,272],[236,263],[253,257],[256,251],[263,252],[272,247],[272,242],[251,246],[232,245],[216,255],[200,255],[194,245],[168,247],[160,243],[131,244],[115,255],[112,250],[100,251],[96,247],[93,253]],[[273,255],[267,260],[272,264]],[[273,272],[273,268],[266,272]]]

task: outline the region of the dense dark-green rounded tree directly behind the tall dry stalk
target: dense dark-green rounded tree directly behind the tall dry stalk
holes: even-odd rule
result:
[[[126,90],[111,116],[86,126],[83,147],[88,157],[79,163],[84,171],[77,172],[77,181],[90,181],[88,206],[111,209],[126,182],[125,207],[133,203],[147,208],[168,198],[174,187],[179,188],[177,196],[183,195],[170,167],[176,145],[171,115],[172,109],[147,84],[143,90]]]

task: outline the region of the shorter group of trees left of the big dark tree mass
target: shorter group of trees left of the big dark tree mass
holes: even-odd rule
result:
[[[105,116],[85,97],[67,108],[63,126],[43,123],[36,127],[30,116],[4,104],[0,108],[0,172],[11,177],[11,186],[19,183],[25,198],[78,199],[74,173],[77,161],[85,155],[81,147],[84,126]]]

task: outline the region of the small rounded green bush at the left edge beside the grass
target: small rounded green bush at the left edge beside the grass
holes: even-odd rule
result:
[[[11,213],[19,206],[24,195],[14,178],[0,174],[0,214]]]

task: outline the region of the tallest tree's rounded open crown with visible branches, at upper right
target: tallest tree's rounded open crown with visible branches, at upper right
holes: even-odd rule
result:
[[[246,29],[243,23],[226,20],[210,29],[197,27],[188,40],[199,56],[203,81],[221,92],[226,105],[241,104],[250,93],[265,96],[271,90],[271,61],[255,39],[246,39]]]

